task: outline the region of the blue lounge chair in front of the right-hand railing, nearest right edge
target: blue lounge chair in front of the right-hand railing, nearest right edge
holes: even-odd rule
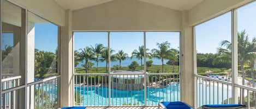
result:
[[[244,109],[246,105],[240,104],[223,104],[223,105],[203,105],[199,109]]]

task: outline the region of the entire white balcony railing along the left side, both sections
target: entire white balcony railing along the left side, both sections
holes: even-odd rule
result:
[[[58,79],[51,76],[27,84],[29,108],[57,108],[58,107]],[[25,106],[19,100],[25,98],[25,85],[20,86],[21,76],[2,79],[1,108],[19,108]]]

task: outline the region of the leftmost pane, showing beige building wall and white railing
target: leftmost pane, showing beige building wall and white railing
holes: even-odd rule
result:
[[[21,25],[22,9],[2,3],[2,89],[8,89],[25,84],[25,27]]]

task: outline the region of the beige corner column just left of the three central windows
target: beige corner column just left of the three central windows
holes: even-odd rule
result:
[[[66,10],[65,26],[61,27],[61,107],[74,105],[73,83],[72,11]]]

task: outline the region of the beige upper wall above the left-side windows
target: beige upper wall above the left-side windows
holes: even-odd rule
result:
[[[22,8],[27,8],[35,14],[44,17],[57,25],[65,24],[65,10],[53,0],[8,0]]]

